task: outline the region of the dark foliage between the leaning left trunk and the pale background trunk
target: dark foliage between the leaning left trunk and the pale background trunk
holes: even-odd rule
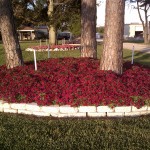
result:
[[[17,27],[48,22],[46,0],[12,0],[12,4]]]

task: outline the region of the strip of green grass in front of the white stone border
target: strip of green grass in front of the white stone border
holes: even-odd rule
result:
[[[52,119],[0,113],[1,150],[148,150],[150,116]]]

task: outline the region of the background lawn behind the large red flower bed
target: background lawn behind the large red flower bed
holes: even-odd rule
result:
[[[45,42],[42,42],[42,45],[44,45]],[[33,61],[33,52],[27,52],[25,51],[26,48],[30,46],[39,45],[39,41],[34,42],[21,42],[21,49],[23,54],[24,61]],[[102,53],[102,44],[97,46],[97,57],[100,59]],[[123,58],[125,61],[131,61],[131,50],[124,49],[123,50]],[[37,52],[37,60],[45,60],[47,59],[48,54],[47,52]],[[60,57],[80,57],[80,50],[74,50],[74,51],[63,51],[63,52],[50,52],[51,58],[60,58]],[[141,52],[135,52],[134,56],[134,62],[141,63],[143,65],[150,66],[150,54],[147,53],[141,53]],[[5,53],[2,44],[0,44],[0,65],[5,64]]]

